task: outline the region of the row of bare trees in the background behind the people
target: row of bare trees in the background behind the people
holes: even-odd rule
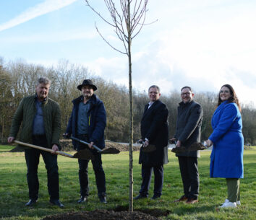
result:
[[[67,126],[72,110],[72,100],[80,95],[77,85],[85,78],[93,79],[98,87],[96,94],[103,100],[107,113],[106,138],[111,141],[129,141],[129,92],[124,86],[96,77],[85,66],[74,65],[69,61],[59,61],[56,67],[46,68],[41,65],[29,64],[22,60],[4,63],[0,58],[0,142],[9,136],[9,127],[17,106],[22,97],[35,94],[35,84],[39,76],[51,79],[49,97],[59,102],[61,107],[61,129]],[[147,88],[145,88],[147,89]],[[134,102],[134,138],[140,138],[140,119],[148,94],[133,91]],[[174,135],[176,112],[181,102],[180,92],[172,91],[162,94],[161,100],[169,110],[169,134]],[[211,118],[216,109],[217,94],[214,92],[195,91],[195,100],[202,105],[201,139],[205,140],[212,132]],[[242,105],[244,144],[256,144],[256,109],[252,105]]]

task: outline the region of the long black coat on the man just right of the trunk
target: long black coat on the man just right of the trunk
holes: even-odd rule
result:
[[[155,101],[148,109],[145,105],[141,120],[142,139],[148,138],[156,150],[150,153],[140,150],[139,163],[145,166],[158,166],[168,163],[168,110],[160,100]]]

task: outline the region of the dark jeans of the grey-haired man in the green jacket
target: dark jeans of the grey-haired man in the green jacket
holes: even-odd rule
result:
[[[33,144],[47,147],[46,136],[33,136]],[[30,199],[38,199],[39,181],[38,164],[40,154],[46,164],[48,178],[48,193],[51,199],[59,199],[59,172],[57,155],[38,149],[25,149],[25,159],[27,163],[27,185]]]

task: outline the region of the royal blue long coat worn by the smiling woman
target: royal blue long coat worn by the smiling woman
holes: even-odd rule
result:
[[[210,177],[243,178],[244,137],[242,117],[236,103],[222,102],[213,114]]]

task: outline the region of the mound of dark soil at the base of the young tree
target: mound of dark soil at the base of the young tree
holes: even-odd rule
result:
[[[43,220],[159,220],[157,217],[144,214],[140,211],[82,211],[46,216]]]

